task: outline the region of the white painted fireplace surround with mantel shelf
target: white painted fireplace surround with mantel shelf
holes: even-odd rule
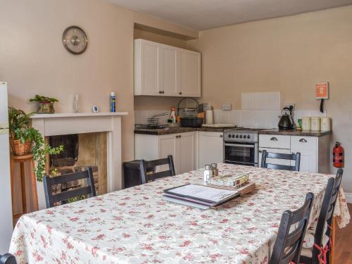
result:
[[[122,189],[121,118],[117,113],[54,113],[32,116],[32,127],[43,137],[62,134],[107,133],[108,192]],[[44,186],[37,182],[39,209],[46,208]]]

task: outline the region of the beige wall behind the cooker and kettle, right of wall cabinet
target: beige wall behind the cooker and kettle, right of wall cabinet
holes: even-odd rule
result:
[[[333,140],[346,148],[344,186],[352,192],[352,6],[220,27],[188,42],[202,53],[203,101],[215,108],[241,92],[279,91],[282,104],[318,109],[315,82],[330,82]]]

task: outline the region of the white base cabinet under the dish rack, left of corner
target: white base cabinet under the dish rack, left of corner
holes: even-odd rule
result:
[[[146,161],[172,155],[176,174],[196,168],[196,132],[150,135],[134,134],[134,158]],[[161,170],[168,170],[167,167]]]

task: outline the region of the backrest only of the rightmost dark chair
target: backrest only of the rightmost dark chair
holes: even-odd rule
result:
[[[325,235],[330,237],[331,229],[326,228],[327,225],[332,226],[332,218],[334,217],[334,209],[339,196],[342,175],[344,170],[339,169],[335,178],[330,178],[327,182],[327,189],[322,200],[322,208],[320,209],[317,227],[315,229],[314,243],[322,246],[322,239]],[[325,230],[326,228],[326,230]],[[319,263],[318,255],[320,251],[313,246],[313,263]]]

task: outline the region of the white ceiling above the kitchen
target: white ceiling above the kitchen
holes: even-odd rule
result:
[[[352,4],[352,0],[108,0],[192,30]]]

